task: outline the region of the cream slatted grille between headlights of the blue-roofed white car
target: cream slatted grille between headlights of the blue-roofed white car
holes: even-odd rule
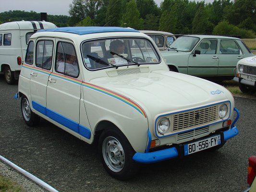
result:
[[[172,131],[198,127],[218,120],[218,106],[210,106],[172,115]]]

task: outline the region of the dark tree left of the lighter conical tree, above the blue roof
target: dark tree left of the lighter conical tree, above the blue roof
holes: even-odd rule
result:
[[[110,0],[107,14],[106,14],[106,26],[120,26],[122,18],[121,0]]]

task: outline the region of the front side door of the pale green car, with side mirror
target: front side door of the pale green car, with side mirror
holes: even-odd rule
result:
[[[188,58],[188,74],[194,76],[216,76],[218,74],[219,54],[217,39],[203,39]]]

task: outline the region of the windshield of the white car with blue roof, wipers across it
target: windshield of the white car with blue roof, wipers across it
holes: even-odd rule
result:
[[[126,65],[157,64],[160,57],[146,38],[105,38],[81,45],[85,67],[89,70]]]

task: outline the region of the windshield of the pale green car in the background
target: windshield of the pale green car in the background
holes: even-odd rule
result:
[[[198,37],[181,36],[170,45],[169,50],[190,52],[198,41]]]

